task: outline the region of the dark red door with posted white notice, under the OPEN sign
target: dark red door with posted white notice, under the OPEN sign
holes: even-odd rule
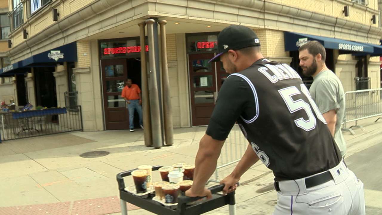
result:
[[[189,54],[192,125],[208,125],[218,92],[228,74],[221,62],[208,63],[214,53]]]

